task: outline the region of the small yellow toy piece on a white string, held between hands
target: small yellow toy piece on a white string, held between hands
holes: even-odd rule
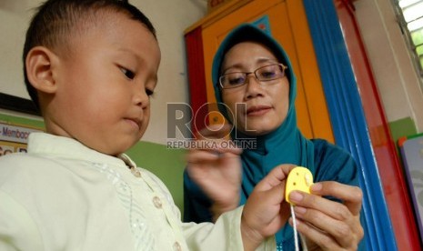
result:
[[[313,185],[313,175],[311,174],[310,170],[302,166],[295,167],[291,170],[291,172],[289,172],[289,175],[287,176],[285,199],[291,205],[294,205],[289,201],[289,194],[294,190],[309,194],[311,185]]]

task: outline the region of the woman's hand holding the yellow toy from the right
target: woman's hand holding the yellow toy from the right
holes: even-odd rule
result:
[[[296,204],[297,230],[306,236],[308,249],[357,250],[364,235],[360,224],[361,189],[325,181],[311,186],[311,193],[289,195]],[[333,196],[343,203],[322,196]]]

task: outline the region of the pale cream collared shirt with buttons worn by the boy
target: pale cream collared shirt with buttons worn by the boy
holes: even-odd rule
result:
[[[182,223],[166,186],[128,166],[125,155],[31,134],[27,154],[0,157],[0,250],[242,250],[242,207],[216,224]]]

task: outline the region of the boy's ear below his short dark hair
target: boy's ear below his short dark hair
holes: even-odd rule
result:
[[[38,91],[53,94],[55,85],[55,69],[57,55],[44,46],[35,46],[26,55],[26,75],[29,83]]]

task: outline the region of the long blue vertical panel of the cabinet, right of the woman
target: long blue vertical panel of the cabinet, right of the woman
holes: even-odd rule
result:
[[[304,0],[330,120],[338,146],[361,167],[367,250],[397,250],[368,126],[332,0]],[[377,177],[377,178],[375,178]]]

